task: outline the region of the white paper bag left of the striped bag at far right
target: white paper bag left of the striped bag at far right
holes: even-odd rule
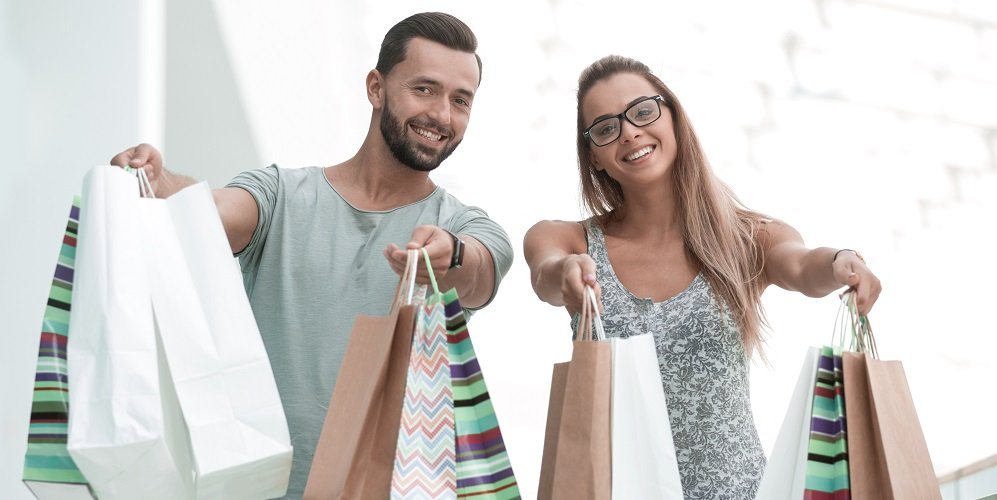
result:
[[[789,400],[786,417],[779,428],[765,475],[758,485],[757,500],[799,500],[803,498],[807,473],[807,447],[813,410],[814,382],[820,348],[811,347],[803,359],[796,389]]]

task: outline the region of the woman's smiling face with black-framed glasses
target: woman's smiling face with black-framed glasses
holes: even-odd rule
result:
[[[611,140],[603,146],[589,140],[592,165],[622,186],[659,180],[675,161],[671,111],[647,99],[658,93],[641,75],[617,73],[597,82],[582,98],[583,123],[591,137],[599,144]],[[614,118],[620,113],[625,117]]]

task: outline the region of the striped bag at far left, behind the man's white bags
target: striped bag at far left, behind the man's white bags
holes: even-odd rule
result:
[[[42,317],[38,363],[31,398],[24,484],[40,500],[91,499],[90,486],[66,450],[69,430],[69,380],[66,342],[76,267],[80,198],[73,200]]]

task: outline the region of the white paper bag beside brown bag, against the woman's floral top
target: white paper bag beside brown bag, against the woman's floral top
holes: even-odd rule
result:
[[[682,498],[654,336],[609,339],[613,352],[613,498]]]

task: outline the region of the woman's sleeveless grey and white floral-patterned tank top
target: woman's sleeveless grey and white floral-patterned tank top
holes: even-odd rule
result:
[[[702,273],[663,302],[634,296],[613,271],[602,228],[594,219],[583,225],[606,335],[654,335],[686,500],[754,499],[765,454],[751,413],[749,359],[730,309]]]

